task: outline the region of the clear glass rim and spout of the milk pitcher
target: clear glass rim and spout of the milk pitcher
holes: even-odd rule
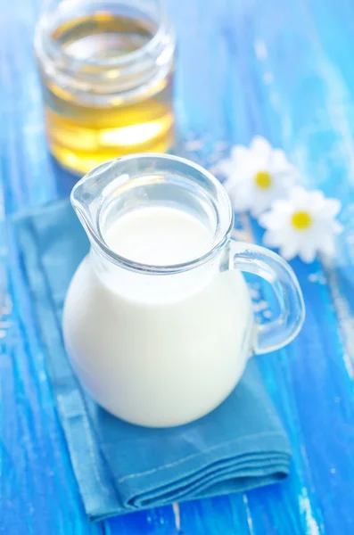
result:
[[[210,243],[210,247],[205,251],[200,257],[185,261],[179,264],[170,264],[166,266],[156,266],[150,264],[144,264],[136,262],[132,259],[127,259],[123,256],[120,256],[117,252],[112,251],[111,248],[104,241],[103,235],[99,226],[100,210],[97,211],[95,223],[93,224],[87,219],[85,210],[82,210],[82,206],[78,200],[80,186],[82,186],[90,177],[95,176],[96,173],[100,173],[100,168],[103,168],[103,172],[106,169],[110,169],[110,172],[116,165],[128,163],[129,161],[134,161],[138,159],[139,161],[149,164],[151,161],[156,161],[159,159],[161,161],[175,161],[179,165],[185,167],[185,169],[193,169],[197,175],[200,175],[207,179],[208,182],[213,185],[215,188],[216,194],[218,195],[217,200],[217,210],[220,215],[220,225],[218,233],[216,232],[214,240]],[[151,171],[147,171],[150,175]],[[142,154],[131,154],[128,156],[123,156],[119,159],[108,161],[101,166],[90,171],[85,177],[81,178],[78,183],[74,186],[71,195],[70,201],[73,208],[78,212],[81,222],[85,226],[86,231],[88,232],[91,243],[94,246],[95,251],[103,256],[104,258],[110,260],[114,264],[118,265],[121,268],[126,268],[130,271],[136,271],[140,273],[150,274],[150,275],[175,275],[177,273],[183,273],[189,271],[190,269],[197,268],[202,266],[205,262],[213,259],[219,251],[221,251],[226,243],[228,242],[232,229],[234,227],[234,212],[231,208],[231,202],[226,193],[225,188],[214,177],[210,171],[203,169],[200,165],[194,163],[193,161],[186,160],[185,158],[180,158],[179,156],[173,156],[170,154],[159,154],[159,153],[142,153]]]

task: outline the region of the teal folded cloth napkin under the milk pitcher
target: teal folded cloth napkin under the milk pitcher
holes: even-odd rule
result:
[[[255,358],[226,401],[192,424],[148,429],[98,407],[70,368],[61,330],[70,278],[88,251],[86,234],[67,201],[16,218],[14,228],[72,467],[91,520],[251,489],[286,476],[288,440]]]

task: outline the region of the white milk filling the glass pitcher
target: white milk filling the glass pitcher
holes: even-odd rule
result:
[[[148,208],[119,218],[104,239],[121,256],[166,266],[201,256],[212,237],[182,211]],[[220,273],[219,259],[174,276],[105,267],[81,263],[64,310],[66,346],[87,390],[135,424],[183,424],[217,407],[249,352],[241,273]]]

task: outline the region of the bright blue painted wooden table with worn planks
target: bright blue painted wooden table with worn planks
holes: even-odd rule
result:
[[[89,524],[54,406],[45,353],[14,259],[8,215],[67,194],[48,156],[32,50],[39,0],[0,11],[0,532],[6,535],[345,535],[354,532],[354,4],[170,0],[177,113],[205,165],[260,134],[308,187],[341,198],[332,267],[292,262],[307,305],[299,338],[259,358],[289,434],[273,487]],[[259,239],[248,219],[243,232]]]

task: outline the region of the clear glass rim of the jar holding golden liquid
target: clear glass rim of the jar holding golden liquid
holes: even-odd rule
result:
[[[51,14],[44,13],[37,21],[36,25],[36,34],[35,34],[35,47],[38,50],[41,50],[42,53],[45,53],[45,46],[51,50],[53,55],[57,58],[61,57],[67,62],[74,62],[75,64],[85,64],[93,65],[100,67],[124,67],[132,62],[138,62],[140,59],[144,59],[150,55],[153,56],[153,52],[159,50],[159,45],[161,45],[161,40],[164,36],[169,35],[171,40],[175,41],[175,36],[173,30],[169,24],[169,17],[167,15],[166,8],[161,4],[161,14],[160,20],[157,25],[156,32],[153,34],[152,38],[132,52],[125,53],[124,55],[110,58],[100,58],[99,60],[94,58],[85,58],[79,59],[75,56],[72,56],[70,53],[63,51],[53,38],[51,34],[54,29],[54,24],[52,23]],[[40,55],[42,55],[42,53]],[[46,54],[45,54],[46,55]]]

